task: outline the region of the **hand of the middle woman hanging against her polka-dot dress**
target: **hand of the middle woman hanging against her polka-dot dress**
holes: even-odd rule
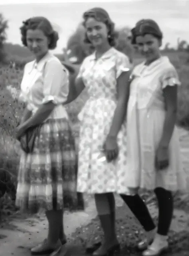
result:
[[[103,149],[108,162],[115,160],[118,157],[117,137],[108,136],[104,142]]]

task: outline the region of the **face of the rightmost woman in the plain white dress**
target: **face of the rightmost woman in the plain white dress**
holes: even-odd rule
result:
[[[146,58],[147,61],[152,62],[160,56],[159,47],[161,40],[155,38],[151,34],[136,37],[136,44],[139,52]]]

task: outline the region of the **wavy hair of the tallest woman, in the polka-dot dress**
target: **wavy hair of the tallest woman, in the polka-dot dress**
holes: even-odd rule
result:
[[[88,18],[95,18],[95,20],[103,22],[106,25],[106,27],[108,28],[108,42],[109,42],[110,46],[115,46],[116,38],[118,35],[115,32],[115,24],[110,19],[109,14],[104,9],[98,8],[98,7],[88,10],[87,12],[85,12],[83,14],[83,19],[84,19],[83,26],[84,27],[85,27],[85,24],[86,24],[86,21],[88,20]],[[86,44],[91,44],[91,42],[89,41],[89,38],[87,37],[87,32],[85,32],[84,42]]]

